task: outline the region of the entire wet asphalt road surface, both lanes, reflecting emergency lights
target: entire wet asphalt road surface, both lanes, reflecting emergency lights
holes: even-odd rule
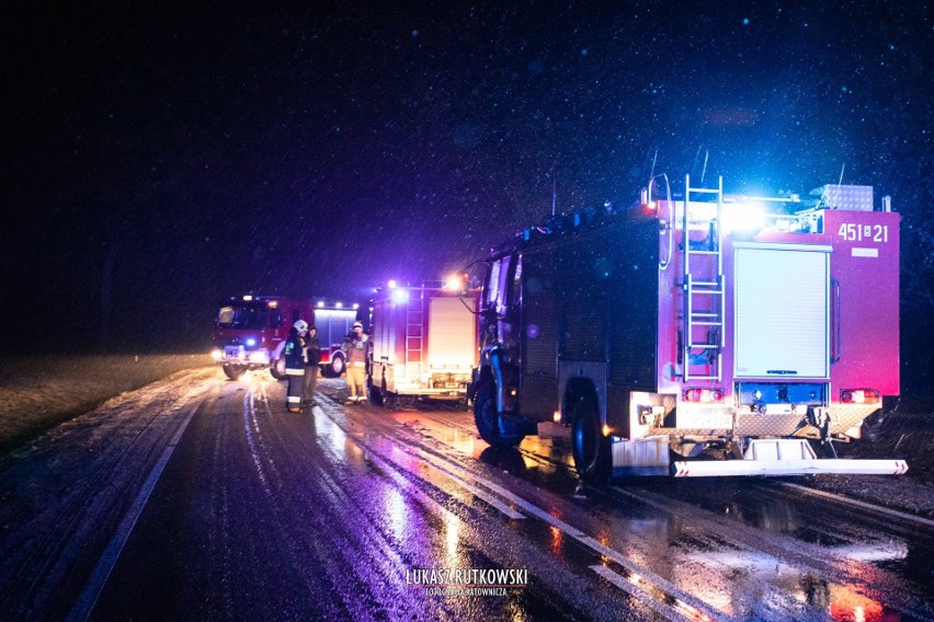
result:
[[[341,380],[298,415],[259,375],[202,384],[162,427],[121,435],[141,475],[116,458],[98,468],[98,489],[122,499],[77,511],[100,534],[21,551],[29,538],[4,527],[21,564],[15,579],[3,566],[11,619],[934,619],[929,523],[764,480],[580,489],[557,426],[496,451],[465,410],[346,406]],[[71,561],[52,578],[26,569],[44,555]],[[520,585],[436,573],[426,586],[429,569],[516,569]]]

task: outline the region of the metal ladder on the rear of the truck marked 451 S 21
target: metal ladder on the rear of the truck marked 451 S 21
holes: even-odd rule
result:
[[[693,209],[692,203],[694,203]],[[685,381],[722,380],[725,332],[724,255],[720,230],[722,215],[724,178],[718,177],[716,188],[694,188],[691,187],[691,175],[685,175],[681,283],[683,297],[681,360],[682,377]]]

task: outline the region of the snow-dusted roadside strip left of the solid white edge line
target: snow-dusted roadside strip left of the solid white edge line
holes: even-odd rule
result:
[[[209,366],[172,373],[162,362],[153,361],[152,371],[167,378],[113,395],[0,454],[4,619],[59,620],[75,611],[80,589],[186,413],[225,381]]]

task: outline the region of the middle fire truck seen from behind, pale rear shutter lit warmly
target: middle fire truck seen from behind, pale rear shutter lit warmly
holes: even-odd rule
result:
[[[479,290],[462,276],[445,284],[389,281],[373,299],[373,401],[464,400],[477,366]]]

